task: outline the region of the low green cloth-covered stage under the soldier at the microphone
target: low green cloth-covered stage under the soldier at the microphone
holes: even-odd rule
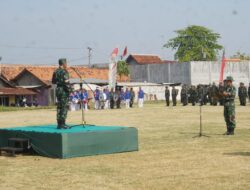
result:
[[[59,130],[55,125],[0,129],[0,147],[8,138],[30,139],[39,155],[71,158],[138,150],[138,131],[132,127],[79,126]]]

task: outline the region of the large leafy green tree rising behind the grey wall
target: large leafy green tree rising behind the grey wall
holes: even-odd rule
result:
[[[177,50],[175,60],[179,62],[214,61],[223,48],[217,42],[220,34],[203,26],[192,25],[175,32],[177,37],[170,39],[164,47]]]

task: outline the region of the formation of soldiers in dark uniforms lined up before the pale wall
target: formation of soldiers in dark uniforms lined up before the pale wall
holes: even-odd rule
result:
[[[199,105],[211,105],[211,106],[223,106],[224,105],[224,97],[223,92],[226,88],[225,82],[220,82],[219,85],[216,85],[215,83],[209,84],[209,85],[183,85],[182,89],[180,91],[181,96],[181,104],[183,106],[187,106],[188,104],[191,104],[192,106],[195,106],[196,104]],[[172,97],[173,106],[176,106],[177,104],[177,96],[179,94],[179,91],[173,86],[172,90],[169,90],[169,87],[166,86],[165,89],[165,100],[166,100],[166,106],[170,106],[170,96]],[[240,100],[241,106],[246,106],[247,98],[249,98],[250,101],[250,84],[247,89],[247,87],[244,85],[244,83],[240,83],[240,86],[238,88],[238,97]]]

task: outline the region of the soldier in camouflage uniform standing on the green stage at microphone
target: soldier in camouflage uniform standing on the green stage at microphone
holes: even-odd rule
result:
[[[53,73],[52,83],[57,85],[57,128],[69,129],[70,127],[65,124],[68,113],[69,94],[71,92],[66,59],[59,59],[59,68]]]

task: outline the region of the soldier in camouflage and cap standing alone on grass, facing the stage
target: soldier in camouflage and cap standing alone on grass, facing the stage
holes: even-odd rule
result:
[[[234,135],[236,127],[235,121],[235,103],[236,88],[233,86],[233,77],[226,78],[226,87],[223,91],[224,97],[224,118],[227,125],[227,132],[225,135]]]

